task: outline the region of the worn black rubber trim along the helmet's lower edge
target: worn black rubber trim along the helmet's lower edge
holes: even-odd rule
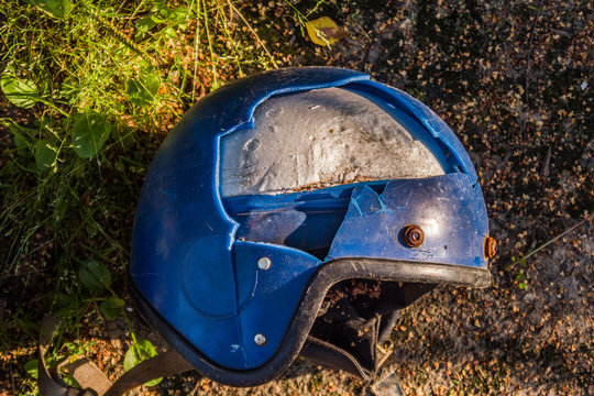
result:
[[[205,356],[151,306],[132,280],[131,294],[144,319],[190,363],[196,371],[221,384],[245,387],[267,383],[289,367],[299,355],[328,289],[338,282],[361,278],[407,283],[487,287],[486,268],[370,258],[338,258],[323,264],[311,277],[280,346],[266,364],[252,370],[222,367]]]

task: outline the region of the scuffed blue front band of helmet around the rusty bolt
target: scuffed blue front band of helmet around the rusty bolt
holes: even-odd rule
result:
[[[328,256],[485,266],[482,244],[473,243],[488,233],[480,194],[464,174],[393,180],[381,194],[356,187]],[[399,240],[408,224],[424,231],[421,246],[410,249]]]

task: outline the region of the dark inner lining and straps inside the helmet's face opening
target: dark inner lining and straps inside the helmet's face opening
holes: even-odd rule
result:
[[[366,382],[389,356],[382,345],[402,309],[432,284],[351,279],[327,294],[300,355],[314,363],[359,375]]]

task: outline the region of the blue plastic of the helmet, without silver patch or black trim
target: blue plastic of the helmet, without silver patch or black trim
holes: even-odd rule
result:
[[[220,138],[252,128],[255,107],[273,95],[328,87],[372,97],[376,103],[385,102],[382,106],[391,114],[402,112],[425,127],[421,132],[437,142],[429,146],[442,150],[441,161],[450,162],[449,174],[292,197],[239,197],[223,205],[218,187]],[[156,311],[216,364],[254,369],[280,344],[307,282],[323,265],[326,254],[320,252],[328,258],[486,266],[480,251],[487,232],[486,213],[475,183],[476,174],[458,139],[406,94],[345,69],[267,72],[205,97],[169,133],[136,209],[131,274]],[[239,216],[250,207],[253,213]],[[399,228],[407,222],[432,227],[431,213],[443,239],[427,235],[421,250],[398,243]],[[312,228],[319,231],[318,240]],[[266,271],[257,268],[257,260],[264,256],[272,262]],[[253,341],[256,332],[266,337],[262,346]]]

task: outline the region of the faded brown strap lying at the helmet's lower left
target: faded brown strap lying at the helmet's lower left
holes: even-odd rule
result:
[[[194,370],[175,350],[143,361],[114,383],[111,383],[95,363],[85,358],[72,363],[66,358],[47,369],[44,356],[59,324],[59,320],[50,315],[42,321],[37,363],[37,383],[42,396],[120,396],[151,380]],[[67,385],[59,375],[61,369],[68,371],[80,388]]]

